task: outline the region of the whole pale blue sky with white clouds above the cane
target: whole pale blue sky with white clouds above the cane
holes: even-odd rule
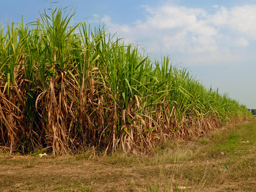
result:
[[[161,59],[190,69],[206,88],[256,108],[256,0],[59,0],[73,22],[105,26]],[[0,24],[33,22],[50,0],[0,0]]]

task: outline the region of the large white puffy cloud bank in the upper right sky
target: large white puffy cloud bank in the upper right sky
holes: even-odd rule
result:
[[[108,15],[101,22],[107,31],[118,31],[118,36],[142,44],[149,53],[168,52],[188,58],[183,62],[199,65],[209,60],[212,64],[242,61],[242,52],[256,40],[256,5],[215,5],[214,13],[172,4],[143,9],[145,19],[134,20],[133,24],[117,24]]]

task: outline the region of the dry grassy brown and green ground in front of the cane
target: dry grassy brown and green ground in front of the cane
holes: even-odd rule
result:
[[[87,159],[0,153],[0,191],[253,191],[256,121],[152,156]]]

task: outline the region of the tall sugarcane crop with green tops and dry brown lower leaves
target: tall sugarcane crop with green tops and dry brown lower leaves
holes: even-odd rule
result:
[[[148,151],[248,116],[168,56],[150,60],[104,28],[71,26],[67,8],[0,30],[0,145],[53,154],[85,146]]]

